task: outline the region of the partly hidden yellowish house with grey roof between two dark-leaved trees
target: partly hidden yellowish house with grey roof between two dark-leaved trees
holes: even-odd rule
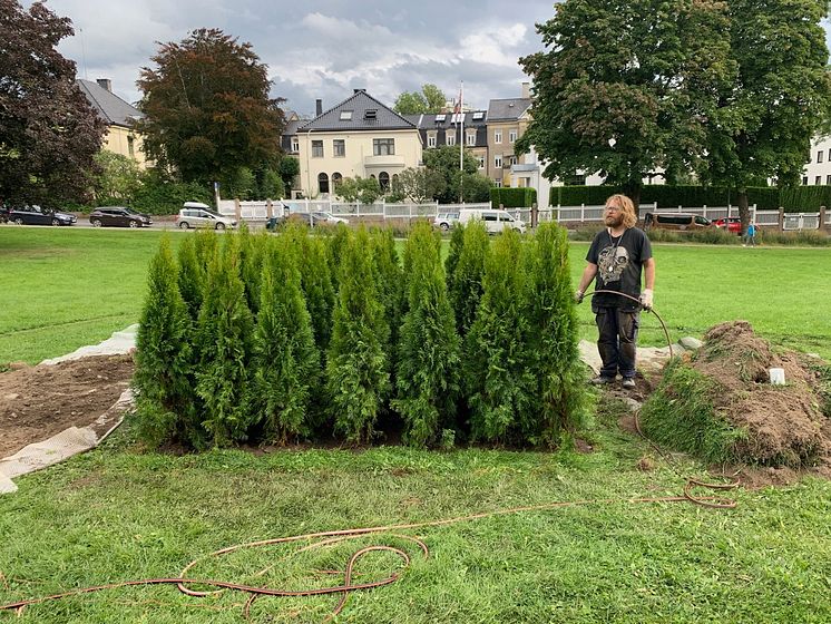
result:
[[[113,82],[106,78],[76,80],[81,92],[98,116],[107,123],[104,149],[133,158],[139,167],[147,166],[143,144],[144,137],[135,130],[144,114],[113,92]]]

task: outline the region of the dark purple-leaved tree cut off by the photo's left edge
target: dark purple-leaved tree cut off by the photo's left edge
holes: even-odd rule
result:
[[[86,191],[105,125],[56,49],[72,33],[41,2],[0,0],[0,201],[53,206]]]

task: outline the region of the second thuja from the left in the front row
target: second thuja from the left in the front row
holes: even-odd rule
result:
[[[205,409],[203,426],[217,446],[244,440],[253,420],[248,387],[254,320],[239,276],[237,237],[224,237],[224,248],[208,267],[196,372],[196,392]]]

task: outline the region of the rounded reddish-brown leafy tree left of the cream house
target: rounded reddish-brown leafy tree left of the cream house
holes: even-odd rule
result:
[[[276,165],[285,124],[271,98],[267,66],[250,43],[199,29],[164,43],[143,68],[145,150],[185,182],[234,181],[243,167]]]

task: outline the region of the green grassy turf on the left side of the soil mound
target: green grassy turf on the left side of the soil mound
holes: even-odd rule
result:
[[[746,438],[746,432],[720,416],[712,397],[722,392],[715,380],[675,359],[644,403],[641,427],[658,445],[711,464],[731,461],[735,443]]]

